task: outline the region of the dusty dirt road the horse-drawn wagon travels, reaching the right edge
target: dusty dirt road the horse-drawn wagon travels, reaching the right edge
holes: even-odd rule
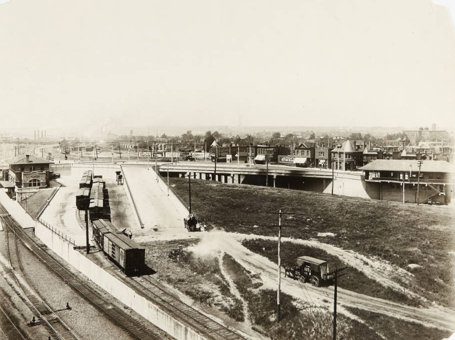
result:
[[[202,242],[211,245],[211,247],[218,248],[218,251],[233,256],[253,274],[260,274],[264,282],[264,288],[277,289],[278,275],[276,263],[243,247],[239,241],[245,237],[253,236],[215,231],[205,234]],[[309,284],[301,284],[299,281],[285,278],[284,272],[282,272],[281,289],[289,295],[306,300],[308,304],[327,308],[330,308],[333,297],[331,287],[313,287]],[[351,306],[381,313],[394,318],[417,322],[427,327],[438,327],[450,331],[453,331],[455,328],[454,312],[444,307],[410,307],[388,300],[358,294],[342,288],[338,288],[338,301],[341,306]],[[343,310],[340,309],[340,312],[342,313]],[[346,316],[351,317],[352,315]]]

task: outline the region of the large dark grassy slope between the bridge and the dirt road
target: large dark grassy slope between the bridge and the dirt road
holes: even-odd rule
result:
[[[170,180],[187,200],[187,180]],[[269,212],[293,212],[282,220],[282,236],[319,239],[363,255],[378,256],[402,268],[419,264],[422,268],[414,272],[410,288],[430,301],[455,307],[455,256],[450,253],[455,249],[454,210],[450,207],[205,180],[191,181],[191,200],[192,209],[207,225],[245,234],[277,236],[278,217]],[[320,232],[335,236],[318,238]],[[293,252],[289,257],[292,256]],[[362,280],[366,286],[352,289],[368,289],[368,278]],[[374,295],[382,296],[380,287],[374,287]],[[394,298],[403,301],[400,296]]]

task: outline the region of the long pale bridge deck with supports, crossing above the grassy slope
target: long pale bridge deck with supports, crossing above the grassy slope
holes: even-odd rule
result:
[[[199,174],[198,178],[207,179],[215,173],[215,163],[200,163],[200,162],[181,162],[178,163],[162,163],[158,164],[158,169],[161,175],[165,175],[167,171],[186,173],[188,171]],[[237,164],[233,163],[217,163],[216,165],[216,180],[221,182],[228,182],[228,178],[231,177],[232,182],[241,182],[242,176],[247,175],[263,175],[272,176],[294,176],[294,177],[313,177],[322,179],[332,179],[333,176],[337,176],[340,173],[343,176],[349,176],[352,179],[362,179],[364,176],[363,171],[337,171],[334,170],[332,174],[331,169],[319,169],[319,168],[298,168],[283,165],[250,165],[250,164]],[[204,175],[205,174],[205,175]],[[209,175],[209,176],[208,176]],[[204,178],[205,176],[205,178]],[[194,176],[196,177],[196,175]],[[235,180],[237,179],[237,180]]]

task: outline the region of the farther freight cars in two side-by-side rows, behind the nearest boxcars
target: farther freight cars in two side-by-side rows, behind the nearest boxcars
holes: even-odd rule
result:
[[[93,177],[93,178],[92,178]],[[109,193],[103,176],[92,176],[92,171],[84,171],[79,182],[79,194],[76,195],[76,207],[79,210],[85,209],[89,202],[88,210],[90,220],[103,218],[111,220],[111,208],[109,206]]]

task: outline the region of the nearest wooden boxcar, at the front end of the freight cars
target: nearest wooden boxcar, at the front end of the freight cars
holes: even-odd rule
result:
[[[106,233],[103,239],[104,253],[117,263],[127,275],[143,272],[146,259],[144,247],[139,246],[123,234]]]

